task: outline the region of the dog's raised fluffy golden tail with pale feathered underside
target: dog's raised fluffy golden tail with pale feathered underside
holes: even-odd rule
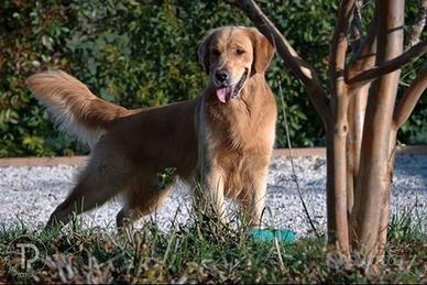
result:
[[[90,149],[111,121],[131,113],[99,99],[81,81],[61,70],[33,75],[26,86],[46,107],[59,130],[87,143]]]

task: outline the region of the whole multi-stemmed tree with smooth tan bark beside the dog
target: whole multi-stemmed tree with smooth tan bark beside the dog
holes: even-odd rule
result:
[[[395,108],[401,68],[427,53],[427,42],[419,41],[427,0],[419,1],[405,53],[405,1],[376,0],[365,40],[348,64],[347,37],[355,4],[360,8],[361,2],[342,0],[329,57],[330,97],[313,66],[304,62],[253,0],[229,2],[245,12],[276,47],[285,66],[305,85],[324,121],[329,243],[344,254],[355,250],[368,262],[381,261],[387,235],[396,133],[427,88],[425,67]],[[360,20],[358,14],[357,21]]]

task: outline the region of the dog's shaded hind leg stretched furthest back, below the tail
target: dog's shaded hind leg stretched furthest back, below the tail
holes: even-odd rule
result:
[[[105,163],[91,160],[68,197],[51,215],[46,228],[68,223],[73,212],[81,213],[103,205],[124,188],[130,176],[128,172],[118,160],[106,160]]]

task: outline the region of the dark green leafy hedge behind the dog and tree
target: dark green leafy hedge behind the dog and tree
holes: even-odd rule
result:
[[[118,3],[120,2],[120,3]],[[337,1],[261,1],[262,8],[319,76],[327,55]],[[412,21],[416,1],[408,9]],[[0,157],[70,155],[87,150],[57,133],[24,80],[64,69],[101,98],[128,108],[195,98],[207,83],[197,47],[207,31],[250,25],[221,1],[19,1],[0,4]],[[419,64],[418,64],[419,65]],[[415,76],[406,68],[402,85]],[[321,70],[321,72],[320,72]],[[267,73],[273,91],[282,85],[294,146],[324,145],[320,119],[299,81],[278,59]],[[324,80],[326,83],[326,80]],[[427,101],[420,102],[399,140],[427,142]],[[282,113],[277,146],[285,146]]]

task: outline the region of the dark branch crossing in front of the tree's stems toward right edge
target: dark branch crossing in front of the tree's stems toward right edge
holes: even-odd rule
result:
[[[413,63],[425,53],[427,53],[427,41],[423,41],[414,45],[402,55],[391,61],[384,62],[380,66],[363,70],[352,78],[346,78],[346,83],[348,85],[352,85],[352,88],[364,85],[373,79],[376,79],[385,74],[393,73],[394,70],[397,70],[403,66]]]

